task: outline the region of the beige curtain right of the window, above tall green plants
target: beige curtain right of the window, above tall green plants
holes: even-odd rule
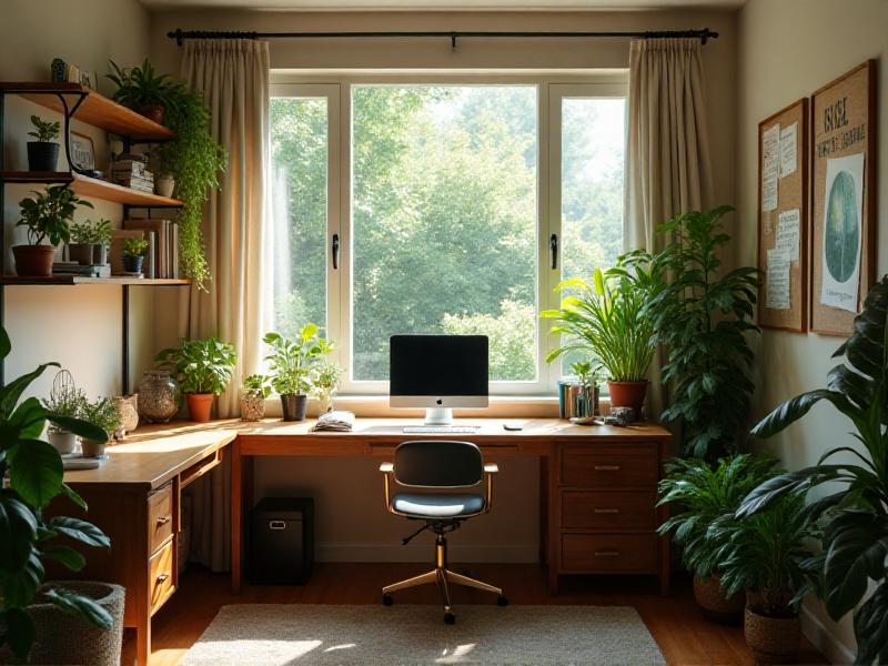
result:
[[[669,218],[714,204],[698,39],[643,39],[629,46],[625,248],[662,246]],[[650,376],[652,416],[663,411],[660,360]]]

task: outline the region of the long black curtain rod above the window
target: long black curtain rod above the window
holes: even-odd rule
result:
[[[238,30],[181,30],[176,28],[167,33],[180,47],[186,39],[363,39],[363,38],[410,38],[410,37],[446,37],[451,47],[456,48],[456,40],[464,37],[531,37],[531,38],[678,38],[690,37],[706,43],[709,39],[717,39],[718,32],[704,28],[703,30],[648,30],[643,32],[513,32],[513,31],[389,31],[389,32],[246,32]]]

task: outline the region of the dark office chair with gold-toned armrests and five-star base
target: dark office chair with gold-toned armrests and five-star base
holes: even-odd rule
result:
[[[463,585],[497,595],[496,603],[508,601],[500,587],[463,576],[447,568],[447,539],[444,535],[457,529],[463,521],[488,513],[493,505],[493,475],[495,464],[484,464],[481,450],[470,442],[417,441],[403,442],[395,450],[395,462],[383,463],[385,508],[411,521],[425,521],[425,525],[402,539],[403,545],[425,529],[435,533],[435,568],[426,574],[401,581],[382,588],[382,602],[394,603],[391,594],[398,589],[436,583],[444,605],[444,622],[453,624],[456,616],[451,606],[448,585]],[[442,491],[467,488],[485,481],[484,494],[447,494],[441,492],[398,493],[391,495],[392,480],[410,488]]]

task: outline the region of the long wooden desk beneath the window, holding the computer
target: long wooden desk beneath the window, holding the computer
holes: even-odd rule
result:
[[[508,420],[515,423],[514,420]],[[406,434],[411,418],[359,418],[347,433],[311,432],[314,421],[239,424],[232,451],[232,588],[243,575],[243,518],[253,504],[255,456],[390,457],[405,440],[465,440],[485,458],[539,457],[541,559],[548,562],[549,587],[563,574],[655,574],[662,594],[669,589],[669,542],[656,527],[666,509],[656,507],[657,482],[670,434],[658,425],[578,426],[556,418],[517,421],[505,431],[502,418],[457,420],[480,425],[472,434]],[[507,466],[504,466],[507,474]],[[500,507],[504,511],[504,507]]]

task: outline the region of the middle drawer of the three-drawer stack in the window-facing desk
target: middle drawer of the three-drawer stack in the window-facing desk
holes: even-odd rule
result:
[[[563,491],[563,528],[654,531],[656,495],[620,491]]]

